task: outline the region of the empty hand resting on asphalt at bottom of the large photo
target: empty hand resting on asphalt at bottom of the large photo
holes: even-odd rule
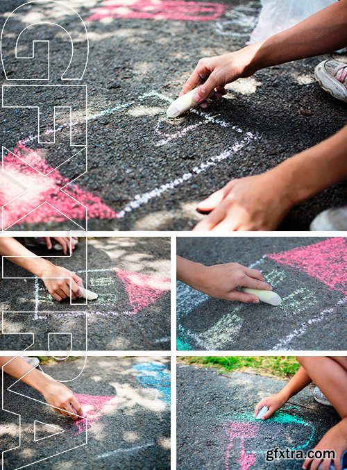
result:
[[[275,230],[294,206],[290,194],[272,170],[232,180],[198,204],[198,210],[212,212],[194,230]]]

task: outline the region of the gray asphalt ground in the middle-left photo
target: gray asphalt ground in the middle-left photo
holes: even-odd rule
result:
[[[54,264],[76,273],[85,283],[85,241],[81,241],[71,258],[49,258]],[[33,250],[35,251],[35,249]],[[46,249],[36,253],[54,255]],[[6,276],[28,276],[27,272],[4,260]],[[48,333],[71,332],[72,350],[165,350],[170,349],[170,292],[160,291],[144,308],[134,312],[130,295],[115,269],[130,273],[170,278],[170,241],[166,237],[99,237],[90,238],[87,245],[88,287],[99,294],[95,301],[78,305],[81,301],[51,298],[42,280],[38,281],[38,302],[35,303],[34,279],[3,279],[0,305],[4,313],[4,331],[11,333],[33,332],[35,344],[31,349],[48,351]],[[105,269],[95,271],[93,269]],[[141,279],[140,279],[141,282]],[[142,286],[139,285],[139,289]],[[155,287],[155,285],[154,285]],[[151,292],[149,292],[151,295]],[[132,293],[131,301],[142,301],[142,292]],[[82,299],[82,302],[85,302]],[[35,307],[36,304],[36,307]],[[35,312],[37,309],[37,312]],[[17,312],[17,313],[16,313]],[[49,313],[46,313],[49,312]],[[78,313],[79,312],[79,313]],[[21,351],[31,344],[31,335],[1,335],[2,350]],[[50,349],[69,350],[69,335],[50,337]]]

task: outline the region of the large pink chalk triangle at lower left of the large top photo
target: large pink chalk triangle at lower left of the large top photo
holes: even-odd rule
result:
[[[5,206],[4,228],[22,222],[67,221],[67,217],[84,220],[83,205],[88,209],[88,219],[117,217],[99,196],[82,190],[76,183],[69,185],[69,179],[50,167],[38,150],[17,144],[4,156],[3,170],[6,172],[0,171],[0,205]]]

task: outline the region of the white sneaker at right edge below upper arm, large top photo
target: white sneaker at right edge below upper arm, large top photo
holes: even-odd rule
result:
[[[347,64],[323,60],[314,69],[314,76],[325,92],[347,103]]]

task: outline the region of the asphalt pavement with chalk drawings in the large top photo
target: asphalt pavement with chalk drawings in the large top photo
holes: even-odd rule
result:
[[[0,26],[21,3],[1,2]],[[160,0],[119,6],[101,0],[69,1],[90,38],[89,63],[78,82],[60,81],[71,56],[69,37],[58,26],[40,26],[41,38],[53,36],[49,84],[88,86],[87,129],[85,94],[77,87],[6,89],[4,103],[14,107],[1,109],[0,122],[11,177],[1,174],[8,185],[1,199],[6,203],[19,196],[23,185],[30,190],[6,206],[6,224],[15,224],[15,230],[65,230],[76,224],[85,228],[85,207],[90,230],[190,230],[204,217],[196,212],[196,203],[231,178],[260,174],[346,124],[344,103],[314,80],[314,67],[332,54],[264,69],[238,81],[208,110],[168,119],[169,103],[200,58],[244,47],[260,1],[178,2],[172,8]],[[42,49],[34,62],[11,60],[12,37],[33,19],[54,19],[69,31],[76,41],[71,70],[77,74],[83,69],[85,36],[79,17],[58,5],[26,5],[16,11],[3,36],[8,78],[46,76],[42,44],[37,45]],[[31,51],[35,38],[35,28],[28,28],[20,44],[23,55]],[[3,75],[2,83],[30,84],[6,82]],[[35,85],[46,83],[39,80]],[[32,107],[37,105],[40,139],[37,109]],[[70,146],[68,106],[72,142],[80,147]],[[47,143],[54,107],[56,144]],[[83,174],[86,132],[88,169]],[[59,191],[72,180],[67,194]],[[321,210],[346,203],[345,195],[346,183],[334,185],[293,210],[280,230],[307,230]],[[44,201],[49,204],[35,210]]]

